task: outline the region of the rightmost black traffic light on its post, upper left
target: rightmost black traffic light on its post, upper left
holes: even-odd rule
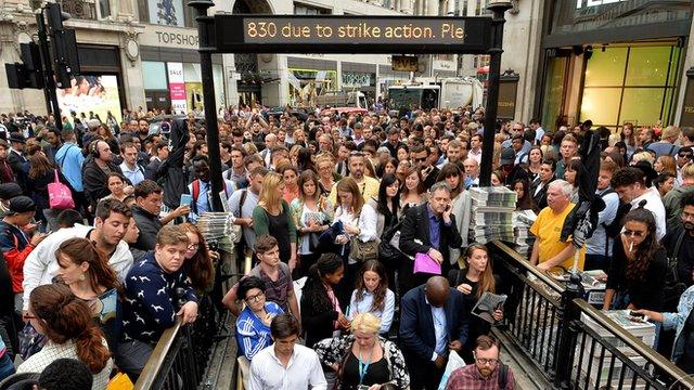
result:
[[[47,3],[51,49],[55,63],[55,83],[57,88],[69,88],[70,77],[79,75],[79,56],[77,55],[77,39],[74,29],[65,29],[63,22],[70,16],[61,11],[59,3]]]

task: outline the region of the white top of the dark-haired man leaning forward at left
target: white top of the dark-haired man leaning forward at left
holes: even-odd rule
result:
[[[31,250],[24,262],[24,310],[29,309],[29,294],[37,286],[51,284],[51,280],[57,274],[57,260],[55,260],[55,250],[64,240],[75,237],[87,237],[92,226],[75,224],[75,227],[60,229],[51,233],[46,239]],[[116,246],[116,250],[108,258],[108,265],[116,271],[118,278],[123,282],[128,275],[128,271],[132,265],[132,253],[128,249],[128,244],[120,240]]]

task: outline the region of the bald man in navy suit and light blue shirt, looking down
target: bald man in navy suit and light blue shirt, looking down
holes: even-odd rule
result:
[[[411,289],[400,306],[400,349],[412,390],[437,389],[450,351],[459,352],[467,338],[463,295],[444,276],[432,276]]]

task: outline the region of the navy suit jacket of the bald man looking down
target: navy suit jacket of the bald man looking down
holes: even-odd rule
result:
[[[444,304],[448,341],[460,340],[465,344],[470,309],[465,308],[463,294],[451,287]],[[424,285],[411,289],[400,302],[400,348],[406,359],[430,361],[436,347],[432,306],[426,303]]]

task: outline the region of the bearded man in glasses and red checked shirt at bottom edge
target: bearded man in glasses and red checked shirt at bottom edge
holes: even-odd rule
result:
[[[479,336],[473,352],[475,364],[457,368],[446,390],[515,389],[513,372],[499,360],[499,341],[493,336]]]

